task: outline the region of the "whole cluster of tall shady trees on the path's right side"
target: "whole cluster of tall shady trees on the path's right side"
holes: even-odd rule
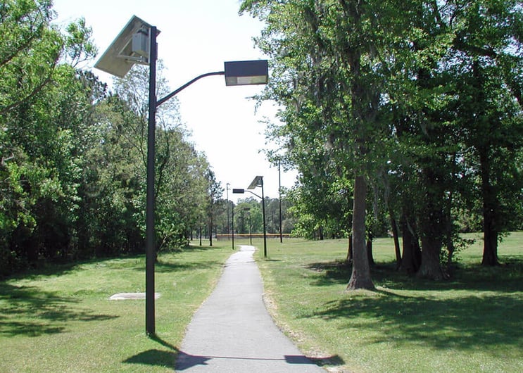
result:
[[[265,23],[260,100],[279,104],[267,137],[299,171],[297,227],[351,235],[349,289],[372,289],[367,238],[383,219],[398,267],[446,276],[484,234],[498,264],[522,229],[523,7],[516,0],[244,0]],[[276,158],[276,154],[270,154]],[[403,237],[403,247],[398,236]]]

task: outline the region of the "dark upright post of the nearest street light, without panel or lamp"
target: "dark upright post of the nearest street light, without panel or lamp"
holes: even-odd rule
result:
[[[154,158],[156,132],[156,26],[151,26],[149,54],[149,128],[147,137],[147,199],[146,199],[146,268],[145,268],[145,332],[156,334],[154,315],[154,262],[156,245],[154,232]]]

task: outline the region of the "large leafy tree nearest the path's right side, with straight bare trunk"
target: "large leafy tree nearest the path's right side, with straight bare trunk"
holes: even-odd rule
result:
[[[353,180],[348,289],[374,287],[365,246],[366,195],[384,155],[380,58],[394,27],[392,5],[341,0],[244,1],[243,6],[267,23],[258,39],[273,59],[267,96],[284,106],[284,126],[273,134],[287,136],[289,159],[303,175],[315,175],[310,165],[320,165],[339,185]],[[311,153],[320,163],[310,162]]]

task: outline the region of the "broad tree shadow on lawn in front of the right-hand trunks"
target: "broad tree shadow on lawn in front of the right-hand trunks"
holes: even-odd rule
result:
[[[327,320],[346,320],[346,327],[375,328],[371,343],[422,342],[434,348],[475,350],[489,346],[522,343],[523,301],[511,296],[466,296],[462,298],[422,298],[398,296],[355,296],[331,301],[314,315]]]

